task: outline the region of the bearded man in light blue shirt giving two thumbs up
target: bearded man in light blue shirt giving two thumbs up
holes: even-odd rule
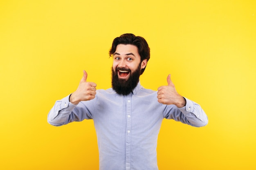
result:
[[[150,58],[142,37],[123,34],[114,39],[112,88],[96,90],[87,73],[74,93],[57,101],[48,122],[61,126],[72,121],[93,119],[97,133],[100,170],[158,170],[157,137],[162,120],[174,119],[191,126],[208,123],[202,108],[179,95],[167,77],[158,91],[139,82]]]

